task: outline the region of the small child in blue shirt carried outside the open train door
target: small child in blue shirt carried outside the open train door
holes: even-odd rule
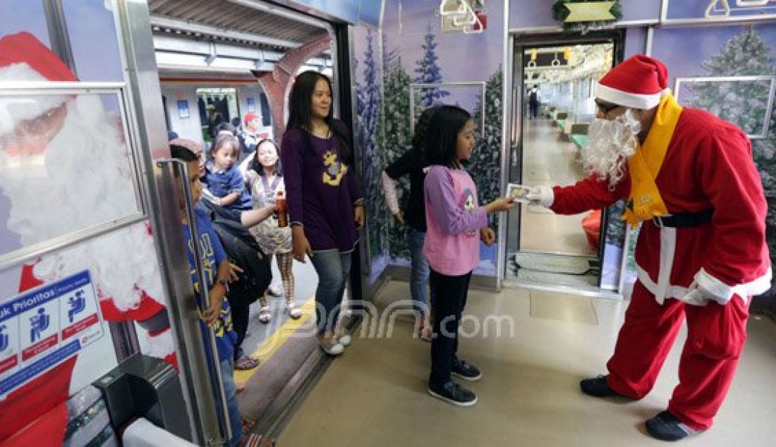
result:
[[[230,133],[219,133],[205,164],[205,184],[213,202],[229,210],[247,211],[253,207],[251,194],[245,188],[240,169],[240,142]]]

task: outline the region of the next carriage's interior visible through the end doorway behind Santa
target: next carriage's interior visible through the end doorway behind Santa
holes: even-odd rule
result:
[[[611,43],[525,50],[523,183],[573,185],[585,177],[578,153],[594,120],[594,83],[611,68]],[[598,254],[598,211],[559,216],[523,206],[520,251]],[[514,248],[513,248],[514,249]]]

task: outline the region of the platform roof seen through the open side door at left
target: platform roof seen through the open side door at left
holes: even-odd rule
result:
[[[329,33],[316,19],[255,0],[148,0],[160,71],[270,71],[286,51]],[[324,52],[308,68],[332,64]]]

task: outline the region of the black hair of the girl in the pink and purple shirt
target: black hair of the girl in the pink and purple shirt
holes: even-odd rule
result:
[[[472,116],[457,106],[439,106],[428,122],[425,137],[426,161],[430,165],[457,168],[458,133]]]

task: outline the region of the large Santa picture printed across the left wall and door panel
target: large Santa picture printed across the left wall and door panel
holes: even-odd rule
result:
[[[76,78],[35,36],[16,33],[0,39],[0,81]],[[10,202],[9,220],[2,223],[9,230],[6,234],[18,234],[21,244],[29,246],[137,213],[129,158],[123,133],[99,95],[20,92],[0,97],[0,192]],[[175,365],[147,224],[113,230],[17,269],[19,293],[88,269],[102,317],[137,321],[146,332],[146,353]],[[88,362],[79,362],[85,357],[73,356],[0,396],[0,444],[61,444],[68,418],[66,400],[78,391],[71,384],[95,374]]]

